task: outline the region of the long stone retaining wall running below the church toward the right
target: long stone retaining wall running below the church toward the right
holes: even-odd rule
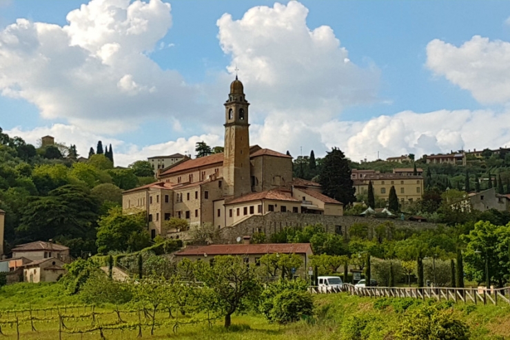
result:
[[[220,230],[217,243],[236,243],[237,237],[244,237],[254,232],[264,232],[267,237],[280,232],[285,227],[303,228],[311,224],[321,223],[327,232],[342,234],[345,240],[349,239],[349,228],[356,223],[365,223],[369,226],[369,237],[374,235],[374,228],[388,223],[387,235],[391,238],[391,227],[395,229],[429,229],[436,228],[436,223],[416,221],[402,221],[400,219],[375,219],[357,216],[328,216],[322,214],[296,214],[292,212],[269,212],[263,216],[254,215],[233,227]],[[216,241],[216,240],[215,240]]]

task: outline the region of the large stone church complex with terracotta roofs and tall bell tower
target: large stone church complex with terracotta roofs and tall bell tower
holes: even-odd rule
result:
[[[123,210],[144,211],[153,238],[167,235],[171,217],[225,228],[271,212],[343,214],[343,204],[318,183],[292,178],[292,157],[250,146],[249,103],[237,77],[224,106],[223,153],[185,157],[159,170],[155,183],[123,192]]]

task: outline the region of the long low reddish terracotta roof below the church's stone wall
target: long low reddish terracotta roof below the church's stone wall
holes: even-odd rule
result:
[[[245,255],[269,254],[305,254],[312,252],[310,243],[263,243],[263,244],[211,244],[202,247],[189,247],[174,253],[176,256],[186,255]]]

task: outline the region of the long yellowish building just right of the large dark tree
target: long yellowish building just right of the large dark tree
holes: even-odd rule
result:
[[[396,173],[381,174],[374,170],[352,170],[351,178],[354,182],[354,188],[356,188],[356,194],[367,192],[371,181],[374,194],[379,199],[388,201],[389,190],[394,186],[401,203],[420,201],[423,194],[423,177],[404,173],[406,172],[397,171]]]

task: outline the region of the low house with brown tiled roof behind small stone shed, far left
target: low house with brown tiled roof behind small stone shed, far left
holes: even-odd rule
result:
[[[34,241],[20,244],[19,246],[16,246],[16,248],[12,249],[12,257],[25,257],[31,261],[54,257],[65,263],[69,263],[71,261],[68,247],[45,241]]]

